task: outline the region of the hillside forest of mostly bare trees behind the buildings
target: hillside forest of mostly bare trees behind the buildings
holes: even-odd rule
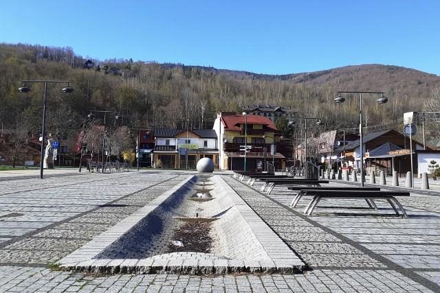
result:
[[[346,102],[338,104],[338,91],[385,92],[387,104],[377,104],[375,95],[363,96],[366,133],[391,128],[402,132],[406,112],[440,112],[440,77],[393,65],[262,75],[125,58],[94,60],[77,56],[70,47],[1,43],[1,137],[17,141],[39,137],[43,113],[44,84],[26,84],[31,91],[20,93],[22,80],[70,81],[73,93],[64,94],[64,85],[56,83],[47,89],[46,129],[59,139],[76,139],[91,123],[91,110],[121,115],[118,121],[108,115],[109,129],[116,123],[128,130],[186,128],[187,119],[188,128],[212,128],[221,111],[241,113],[254,105],[285,106],[289,119],[319,117],[325,124],[316,131],[357,132],[359,94],[345,94]],[[302,123],[294,124],[292,132],[302,129]],[[438,141],[438,123],[427,124],[426,133]]]

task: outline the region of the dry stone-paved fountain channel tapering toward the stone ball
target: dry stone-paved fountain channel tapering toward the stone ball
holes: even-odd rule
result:
[[[221,176],[189,176],[59,261],[101,273],[302,272],[305,263]]]

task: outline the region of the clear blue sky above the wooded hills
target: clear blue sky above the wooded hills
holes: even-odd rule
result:
[[[286,74],[379,63],[440,75],[439,0],[0,0],[0,43]]]

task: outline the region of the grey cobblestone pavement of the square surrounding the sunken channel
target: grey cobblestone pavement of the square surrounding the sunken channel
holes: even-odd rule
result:
[[[0,172],[0,292],[440,292],[440,193],[410,190],[379,211],[359,200],[322,200],[303,215],[293,192],[270,196],[226,182],[309,266],[303,274],[94,275],[56,270],[59,259],[194,172]],[[329,185],[352,183],[331,181]],[[391,187],[386,187],[391,188]],[[340,208],[347,207],[347,208]]]

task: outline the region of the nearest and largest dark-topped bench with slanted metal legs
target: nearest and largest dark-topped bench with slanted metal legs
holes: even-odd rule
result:
[[[316,205],[322,198],[362,198],[369,200],[387,200],[391,207],[393,207],[395,213],[400,215],[399,207],[404,218],[408,218],[404,207],[401,206],[400,202],[395,198],[396,196],[410,196],[409,192],[404,191],[363,191],[363,190],[320,190],[320,189],[309,189],[302,190],[304,195],[314,196],[309,205],[304,210],[304,213],[311,215],[314,211]],[[395,205],[396,204],[396,205]]]

